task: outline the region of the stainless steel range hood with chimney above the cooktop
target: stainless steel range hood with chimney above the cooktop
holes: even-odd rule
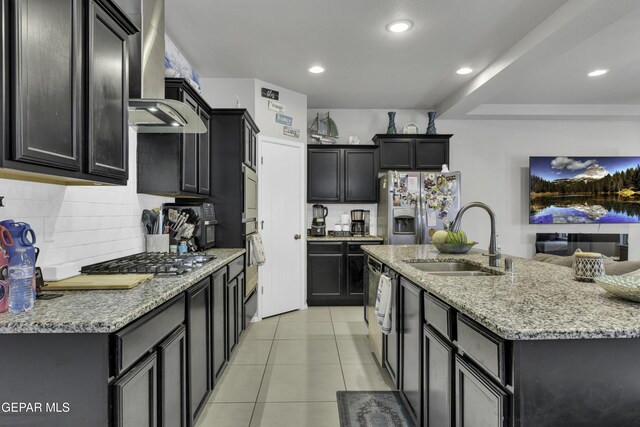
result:
[[[204,133],[189,105],[164,97],[164,0],[116,0],[140,32],[129,39],[129,126],[138,133]]]

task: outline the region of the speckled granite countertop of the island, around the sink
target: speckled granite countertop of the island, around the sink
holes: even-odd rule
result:
[[[363,249],[508,340],[640,337],[640,303],[614,297],[595,283],[574,280],[571,268],[513,257],[513,276],[436,276],[404,261],[452,259],[491,267],[477,249],[466,255],[439,254],[432,245]]]

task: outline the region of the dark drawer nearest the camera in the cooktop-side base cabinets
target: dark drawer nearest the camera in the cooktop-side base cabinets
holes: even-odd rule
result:
[[[112,335],[112,374],[117,376],[184,323],[184,294],[161,305]]]

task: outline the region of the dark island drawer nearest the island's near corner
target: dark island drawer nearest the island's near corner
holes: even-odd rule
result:
[[[456,334],[458,348],[505,384],[504,340],[460,313],[456,319]]]

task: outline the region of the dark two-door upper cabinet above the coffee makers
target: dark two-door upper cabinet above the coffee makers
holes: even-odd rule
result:
[[[376,203],[378,149],[371,145],[310,145],[307,201]]]

